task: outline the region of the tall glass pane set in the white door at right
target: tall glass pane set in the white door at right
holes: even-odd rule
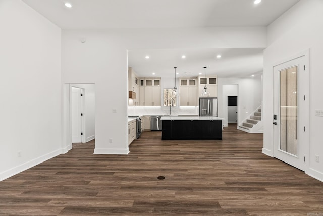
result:
[[[279,74],[280,150],[297,156],[297,66],[281,70]]]

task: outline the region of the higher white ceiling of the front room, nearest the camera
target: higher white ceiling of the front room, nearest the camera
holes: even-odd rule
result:
[[[23,1],[62,29],[106,29],[267,26],[299,0]]]

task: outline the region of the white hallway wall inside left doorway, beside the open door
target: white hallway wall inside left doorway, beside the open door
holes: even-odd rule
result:
[[[95,139],[95,85],[84,83],[84,84],[71,84],[73,87],[84,89],[83,98],[85,99],[85,131],[83,135],[85,136],[85,142]]]

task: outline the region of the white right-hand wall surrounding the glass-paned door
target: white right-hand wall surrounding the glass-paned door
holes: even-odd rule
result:
[[[268,26],[268,48],[264,52],[263,76],[263,151],[273,156],[273,66],[309,49],[309,175],[323,181],[323,117],[315,116],[315,109],[323,110],[323,1],[301,0]],[[300,114],[302,115],[302,114]],[[314,155],[320,162],[314,161]]]

